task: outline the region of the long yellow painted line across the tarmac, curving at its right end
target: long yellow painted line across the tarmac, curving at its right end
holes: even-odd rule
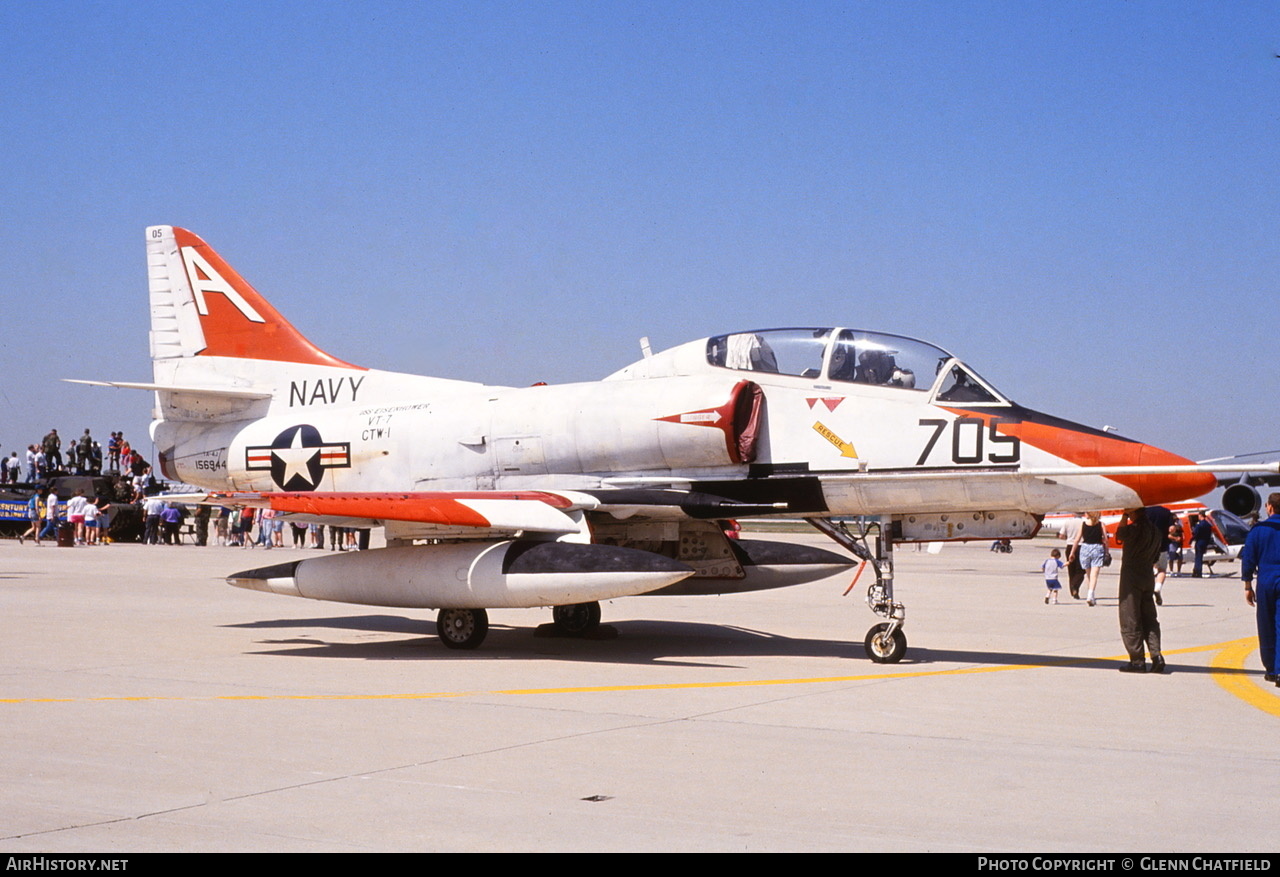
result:
[[[1210,664],[1219,685],[1249,704],[1280,716],[1280,698],[1260,689],[1251,676],[1242,673],[1244,659],[1257,648],[1257,638],[1192,645],[1165,654],[1219,652]],[[527,696],[547,694],[616,694],[627,691],[680,691],[731,688],[763,688],[774,685],[822,685],[832,682],[874,682],[884,680],[924,679],[928,676],[973,676],[1010,670],[1043,670],[1047,667],[1082,667],[1094,663],[1124,661],[1128,656],[1105,658],[1046,658],[1039,663],[1001,664],[988,667],[956,667],[954,670],[915,670],[897,673],[856,673],[850,676],[803,676],[791,679],[727,680],[722,682],[652,682],[645,685],[584,685],[544,689],[493,689],[476,691],[417,691],[399,694],[212,694],[212,695],[120,695],[102,698],[0,698],[0,704],[22,703],[115,703],[137,700],[430,700],[436,698]]]

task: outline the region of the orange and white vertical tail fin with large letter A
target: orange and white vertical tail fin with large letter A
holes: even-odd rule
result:
[[[147,229],[151,358],[224,356],[358,369],[280,316],[212,247],[184,228]]]

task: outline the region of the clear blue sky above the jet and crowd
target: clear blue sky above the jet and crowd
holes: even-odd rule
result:
[[[375,367],[851,325],[1280,447],[1277,54],[1275,3],[0,4],[0,449],[142,438],[58,379],[150,378],[152,224]]]

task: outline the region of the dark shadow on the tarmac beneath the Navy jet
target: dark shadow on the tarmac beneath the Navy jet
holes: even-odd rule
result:
[[[259,639],[259,648],[247,649],[252,654],[282,657],[312,657],[356,661],[477,661],[556,658],[561,661],[690,666],[737,667],[742,658],[800,657],[846,658],[847,672],[859,675],[877,667],[884,675],[895,672],[920,672],[929,670],[963,670],[972,667],[1073,667],[1114,672],[1120,661],[1115,657],[1091,658],[1018,652],[992,652],[979,649],[931,649],[910,647],[899,664],[873,664],[865,658],[860,640],[801,639],[780,636],[767,631],[712,625],[690,621],[636,620],[600,625],[595,636],[559,636],[550,634],[550,625],[513,627],[494,624],[484,645],[474,652],[447,649],[435,639],[435,622],[404,616],[365,615],[329,616],[314,618],[279,618],[228,625],[256,631],[328,629],[366,631],[371,634],[408,634],[408,639],[352,643],[326,641],[320,635]],[[1116,643],[1119,652],[1120,644]],[[1228,673],[1261,675],[1253,670],[1230,670],[1179,664],[1170,657],[1169,667],[1175,673]]]

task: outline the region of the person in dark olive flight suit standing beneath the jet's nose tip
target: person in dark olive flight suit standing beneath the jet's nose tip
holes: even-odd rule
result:
[[[1165,531],[1147,517],[1143,508],[1125,510],[1116,527],[1116,542],[1124,548],[1120,556],[1120,638],[1129,653],[1123,673],[1165,672],[1165,656],[1160,652],[1160,618],[1156,616],[1156,557],[1165,548]]]

